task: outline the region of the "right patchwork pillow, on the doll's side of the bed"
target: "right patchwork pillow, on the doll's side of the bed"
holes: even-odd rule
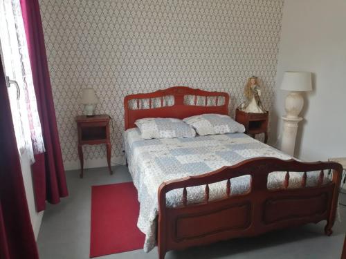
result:
[[[225,133],[244,133],[243,124],[235,122],[227,115],[221,114],[202,114],[183,119],[183,122],[191,125],[199,135],[215,135]]]

